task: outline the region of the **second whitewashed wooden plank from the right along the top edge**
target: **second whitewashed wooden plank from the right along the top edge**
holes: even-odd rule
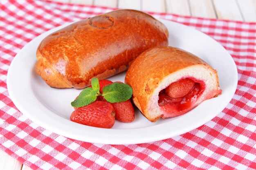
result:
[[[213,0],[218,19],[243,21],[236,0]]]

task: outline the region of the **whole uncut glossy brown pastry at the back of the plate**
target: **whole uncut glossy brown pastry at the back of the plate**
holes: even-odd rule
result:
[[[117,10],[70,24],[38,46],[36,73],[51,87],[82,89],[128,69],[141,52],[168,45],[167,28],[152,16]]]

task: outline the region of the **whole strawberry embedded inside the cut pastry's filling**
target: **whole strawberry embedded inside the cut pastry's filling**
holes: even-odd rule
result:
[[[171,98],[186,96],[195,86],[195,82],[189,78],[176,81],[165,89],[165,93]]]

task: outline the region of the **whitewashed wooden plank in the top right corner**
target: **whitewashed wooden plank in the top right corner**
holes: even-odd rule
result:
[[[237,0],[237,2],[244,20],[247,22],[256,22],[256,0]]]

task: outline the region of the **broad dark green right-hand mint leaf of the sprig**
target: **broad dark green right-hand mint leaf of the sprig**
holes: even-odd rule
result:
[[[113,83],[103,88],[102,96],[110,103],[124,102],[132,97],[132,87],[124,83]]]

